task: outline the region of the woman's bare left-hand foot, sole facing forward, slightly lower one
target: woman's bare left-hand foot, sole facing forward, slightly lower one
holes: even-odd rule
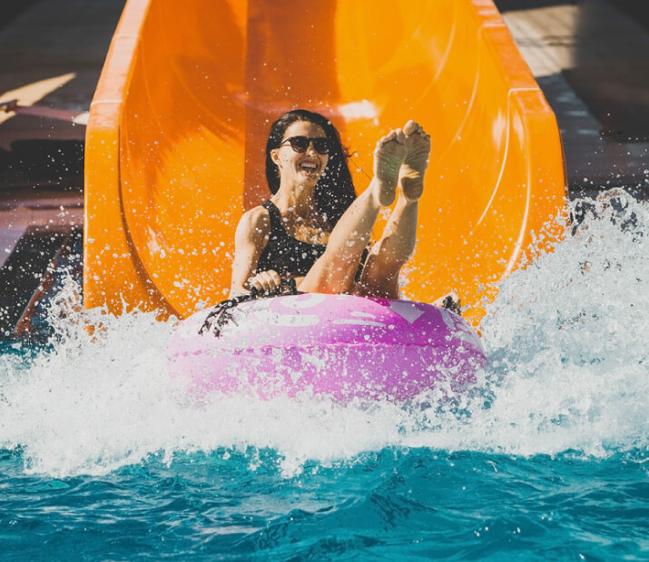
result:
[[[374,151],[374,179],[376,201],[381,207],[394,202],[397,193],[399,170],[408,153],[406,135],[397,129],[379,139]]]

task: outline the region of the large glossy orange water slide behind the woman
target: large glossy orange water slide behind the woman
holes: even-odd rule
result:
[[[85,306],[225,298],[270,123],[296,107],[339,128],[357,192],[380,135],[431,133],[408,298],[456,288],[479,320],[565,204],[555,116],[491,0],[128,0],[87,127]]]

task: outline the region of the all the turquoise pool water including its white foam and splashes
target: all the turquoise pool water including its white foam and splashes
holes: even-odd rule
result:
[[[502,283],[479,386],[443,403],[195,404],[166,371],[171,321],[91,337],[67,286],[54,341],[0,355],[0,558],[648,559],[649,212],[631,215]]]

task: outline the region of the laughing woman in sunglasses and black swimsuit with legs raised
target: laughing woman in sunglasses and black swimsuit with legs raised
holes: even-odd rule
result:
[[[398,299],[398,273],[415,249],[418,199],[430,136],[408,121],[377,143],[374,178],[356,197],[338,131],[319,113],[296,110],[272,124],[266,177],[272,197],[245,212],[235,235],[231,296],[299,291]],[[366,250],[383,207],[398,202],[383,236]]]

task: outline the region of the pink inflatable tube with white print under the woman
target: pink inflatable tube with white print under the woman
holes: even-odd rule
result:
[[[231,309],[218,337],[199,334],[209,312],[184,320],[168,350],[172,372],[199,396],[402,401],[431,389],[461,392],[486,359],[465,320],[422,302],[317,293],[260,299]]]

